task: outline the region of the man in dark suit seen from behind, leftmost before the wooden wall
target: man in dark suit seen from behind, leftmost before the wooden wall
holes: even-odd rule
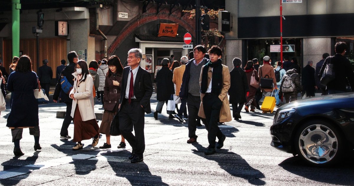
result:
[[[53,78],[52,67],[48,66],[48,60],[43,60],[43,66],[38,69],[38,78],[42,89],[45,90],[45,94],[49,97],[50,80]]]

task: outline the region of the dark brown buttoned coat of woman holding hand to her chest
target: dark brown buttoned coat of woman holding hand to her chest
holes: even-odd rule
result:
[[[113,80],[118,81],[119,86],[113,85]],[[113,111],[119,104],[120,91],[122,88],[122,73],[110,74],[104,80],[103,108],[107,111]]]

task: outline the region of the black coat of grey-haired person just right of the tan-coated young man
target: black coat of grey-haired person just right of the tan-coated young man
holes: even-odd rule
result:
[[[240,67],[234,67],[230,71],[230,103],[236,104],[246,102],[246,92],[248,91],[249,87],[245,71]]]

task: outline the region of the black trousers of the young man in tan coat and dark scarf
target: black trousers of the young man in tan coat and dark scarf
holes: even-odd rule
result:
[[[220,109],[222,101],[218,97],[219,95],[205,95],[203,97],[203,108],[206,117],[205,128],[208,127],[208,141],[209,147],[215,148],[216,137],[221,139],[223,134],[218,126],[218,120],[220,115]]]

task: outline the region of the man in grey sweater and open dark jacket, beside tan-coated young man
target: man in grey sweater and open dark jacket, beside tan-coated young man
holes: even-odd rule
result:
[[[202,45],[197,45],[193,49],[194,58],[189,60],[185,65],[185,70],[182,78],[181,91],[179,97],[181,99],[187,99],[188,107],[188,137],[187,143],[196,142],[197,135],[195,135],[197,122],[196,119],[200,119],[198,111],[200,107],[200,72],[201,67],[209,62],[204,58],[206,49]],[[205,119],[201,119],[203,123],[206,123]]]

